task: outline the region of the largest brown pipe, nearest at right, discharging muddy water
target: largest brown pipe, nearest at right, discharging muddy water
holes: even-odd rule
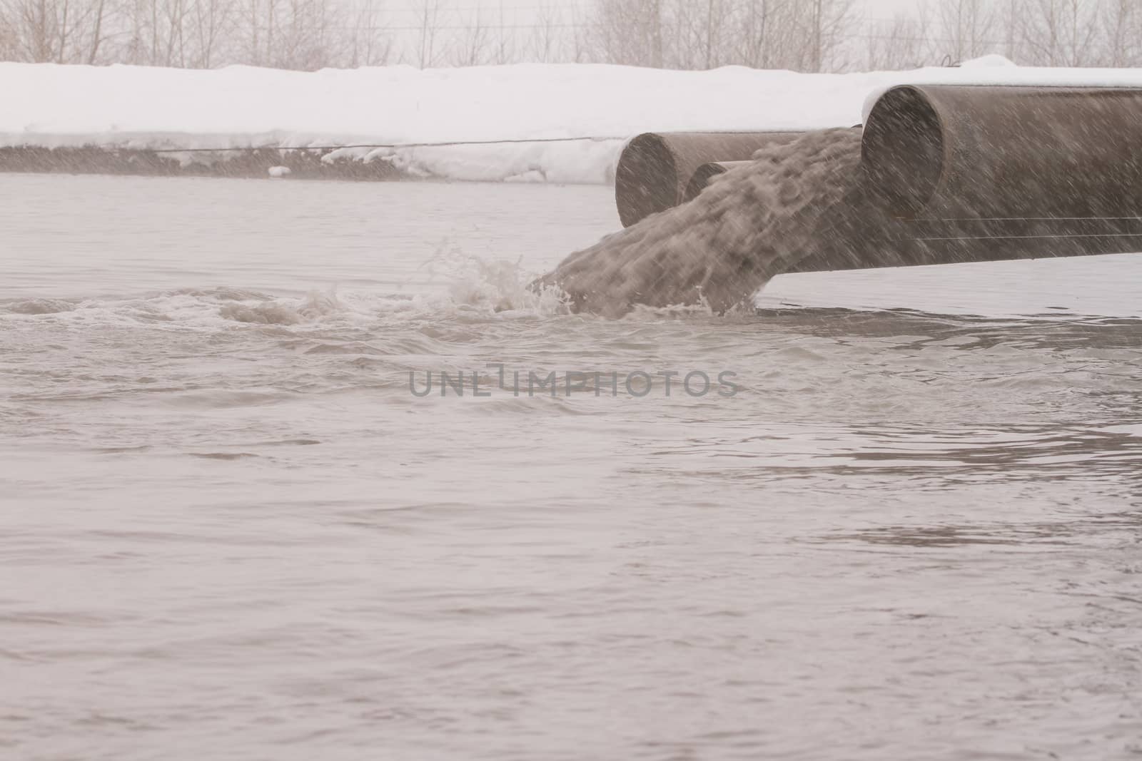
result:
[[[869,113],[861,163],[904,218],[1137,217],[1142,90],[895,87]]]

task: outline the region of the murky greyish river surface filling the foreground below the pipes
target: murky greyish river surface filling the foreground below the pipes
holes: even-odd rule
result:
[[[609,321],[605,187],[0,197],[2,758],[1142,754],[1142,256]]]

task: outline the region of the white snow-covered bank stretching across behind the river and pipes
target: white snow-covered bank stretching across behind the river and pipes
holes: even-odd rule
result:
[[[415,175],[608,183],[625,139],[659,130],[850,127],[903,82],[1142,87],[1142,70],[957,68],[798,74],[518,64],[289,72],[0,64],[0,146],[346,147]],[[553,139],[565,141],[550,141]],[[478,143],[515,140],[514,143]]]

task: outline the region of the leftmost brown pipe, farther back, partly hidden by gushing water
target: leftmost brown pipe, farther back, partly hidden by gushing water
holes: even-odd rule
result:
[[[614,202],[624,227],[685,200],[694,170],[708,162],[748,161],[754,152],[801,132],[644,132],[614,171]]]

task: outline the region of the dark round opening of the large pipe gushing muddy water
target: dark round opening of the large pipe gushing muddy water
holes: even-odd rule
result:
[[[935,194],[943,171],[943,132],[935,108],[912,87],[896,87],[872,106],[861,141],[870,189],[901,217]]]

